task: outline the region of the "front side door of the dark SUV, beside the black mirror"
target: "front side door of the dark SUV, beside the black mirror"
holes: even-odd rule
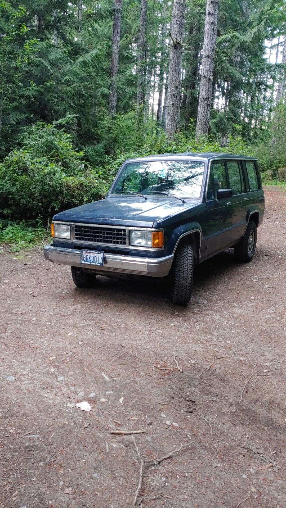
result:
[[[207,252],[206,255],[223,250],[231,244],[233,210],[231,199],[217,199],[218,189],[229,189],[230,183],[225,161],[213,161],[207,190]]]

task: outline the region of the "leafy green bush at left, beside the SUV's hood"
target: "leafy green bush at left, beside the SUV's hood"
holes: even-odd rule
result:
[[[108,174],[82,160],[83,153],[73,150],[64,129],[37,123],[21,140],[24,147],[10,152],[0,165],[2,216],[46,217],[106,194]]]

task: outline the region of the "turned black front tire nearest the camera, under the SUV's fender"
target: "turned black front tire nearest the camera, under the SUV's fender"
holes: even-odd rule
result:
[[[170,301],[177,305],[187,305],[191,299],[193,285],[194,258],[192,246],[179,245],[171,273]]]

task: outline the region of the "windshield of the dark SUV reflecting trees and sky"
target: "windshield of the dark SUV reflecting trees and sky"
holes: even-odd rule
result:
[[[199,198],[205,164],[202,161],[148,161],[124,166],[111,194],[139,193],[144,196],[173,194]]]

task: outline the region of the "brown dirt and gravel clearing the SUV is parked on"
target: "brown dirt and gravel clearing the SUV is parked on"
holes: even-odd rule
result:
[[[0,506],[131,508],[141,465],[142,508],[286,506],[285,205],[266,189],[253,261],[199,266],[186,308],[4,251]]]

